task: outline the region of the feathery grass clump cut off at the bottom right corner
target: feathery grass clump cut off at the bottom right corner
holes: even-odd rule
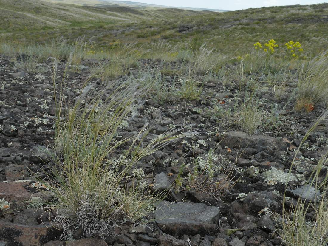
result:
[[[302,144],[314,132],[316,127],[327,119],[327,116],[328,111],[322,113],[303,137],[292,161],[289,170],[290,175],[292,175],[291,171]],[[282,214],[284,222],[280,224],[281,229],[277,230],[277,235],[281,237],[286,246],[326,246],[328,243],[328,200],[325,195],[328,174],[326,173],[322,176],[322,170],[326,168],[325,165],[328,163],[327,157],[328,151],[322,154],[318,164],[314,167],[307,180],[307,185],[313,186],[318,190],[321,193],[320,196],[314,196],[310,202],[298,198],[295,202],[296,205],[291,206],[288,210],[285,206],[287,197],[284,194]],[[306,190],[303,193],[308,195]],[[312,219],[307,216],[310,211],[314,214]]]

